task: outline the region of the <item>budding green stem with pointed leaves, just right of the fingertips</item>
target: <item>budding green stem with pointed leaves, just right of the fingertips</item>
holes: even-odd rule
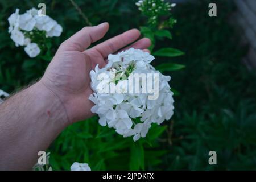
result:
[[[142,14],[146,16],[147,24],[146,26],[141,26],[142,34],[151,40],[151,46],[149,50],[152,55],[160,57],[177,57],[184,55],[184,52],[179,49],[171,47],[160,47],[158,50],[154,50],[155,45],[158,43],[158,39],[166,40],[172,39],[172,34],[170,28],[174,26],[177,22],[173,18],[171,12],[171,7],[176,6],[175,3],[164,2],[163,0],[143,0],[138,1],[136,5]],[[170,61],[166,59],[167,61]],[[176,71],[185,68],[185,65],[174,64],[174,63],[162,63],[158,66],[160,72],[164,71]]]

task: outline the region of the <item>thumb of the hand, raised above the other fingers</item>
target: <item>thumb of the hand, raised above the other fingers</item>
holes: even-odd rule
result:
[[[84,27],[76,32],[60,46],[61,51],[84,51],[91,43],[104,37],[109,30],[109,23],[101,23],[98,26]]]

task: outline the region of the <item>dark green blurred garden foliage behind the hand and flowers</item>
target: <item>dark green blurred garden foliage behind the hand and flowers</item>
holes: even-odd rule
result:
[[[38,3],[63,27],[52,39],[52,51],[87,26],[84,15],[96,25],[109,22],[108,39],[145,19],[131,0],[0,0],[0,89],[14,93],[40,78],[49,61],[31,59],[15,47],[7,18]],[[256,2],[218,0],[217,17],[209,17],[207,0],[177,2],[172,14],[177,23],[172,39],[155,47],[175,47],[183,56],[160,58],[185,65],[170,75],[175,88],[175,115],[148,138],[134,143],[98,125],[97,117],[69,126],[49,148],[53,170],[69,170],[75,161],[93,170],[244,170],[256,169]],[[82,12],[82,14],[81,14]],[[74,73],[75,74],[75,73]],[[154,131],[154,132],[153,132]],[[209,151],[217,152],[217,165],[209,165]]]

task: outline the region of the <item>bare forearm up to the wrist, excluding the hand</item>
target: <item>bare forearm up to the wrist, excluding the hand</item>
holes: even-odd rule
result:
[[[31,169],[68,117],[60,100],[39,81],[0,104],[0,169]]]

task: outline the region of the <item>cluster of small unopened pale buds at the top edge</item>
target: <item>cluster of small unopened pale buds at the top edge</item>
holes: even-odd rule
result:
[[[148,24],[152,27],[157,26],[162,16],[170,15],[172,7],[175,7],[175,3],[164,2],[164,0],[140,0],[136,3],[139,10],[148,17]],[[176,23],[174,18],[170,18],[163,22],[164,27],[172,27]]]

